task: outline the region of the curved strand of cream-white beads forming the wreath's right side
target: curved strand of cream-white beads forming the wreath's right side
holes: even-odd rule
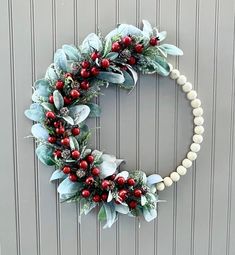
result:
[[[203,108],[201,107],[201,100],[197,98],[197,92],[193,90],[193,86],[187,81],[186,76],[181,75],[179,70],[173,69],[170,66],[169,77],[172,80],[176,80],[177,84],[182,87],[182,90],[186,93],[187,99],[190,101],[191,107],[193,108],[192,114],[194,116],[194,134],[192,137],[192,144],[190,145],[190,150],[187,153],[186,158],[184,158],[176,170],[171,172],[169,176],[163,178],[163,181],[157,184],[157,190],[162,191],[165,187],[170,187],[173,182],[179,181],[180,177],[187,173],[187,169],[192,166],[192,162],[197,158],[197,152],[201,149],[201,143],[203,142],[204,133],[204,118]]]

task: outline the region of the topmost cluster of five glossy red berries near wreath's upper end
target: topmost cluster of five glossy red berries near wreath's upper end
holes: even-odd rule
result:
[[[129,49],[131,56],[128,57],[127,63],[129,65],[135,65],[138,61],[138,54],[142,54],[145,47],[156,46],[159,42],[157,37],[151,37],[149,40],[149,45],[144,46],[143,43],[136,42],[132,36],[125,36],[122,39],[113,42],[112,51],[121,53],[125,49]]]

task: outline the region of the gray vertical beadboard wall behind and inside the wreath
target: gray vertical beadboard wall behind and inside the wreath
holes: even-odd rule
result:
[[[235,254],[234,9],[233,0],[0,0],[2,255]],[[57,47],[142,18],[184,50],[171,62],[203,101],[205,141],[192,171],[160,194],[156,221],[120,217],[103,230],[97,212],[79,224],[78,207],[59,203],[52,169],[24,139],[23,111]],[[131,95],[110,87],[100,104],[93,145],[127,159],[124,168],[166,175],[184,157],[191,109],[169,79],[141,76]]]

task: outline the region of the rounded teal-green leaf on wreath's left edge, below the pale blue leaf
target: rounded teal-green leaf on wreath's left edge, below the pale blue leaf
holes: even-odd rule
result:
[[[38,159],[45,165],[53,166],[55,162],[53,160],[53,148],[46,144],[39,144],[36,149]]]

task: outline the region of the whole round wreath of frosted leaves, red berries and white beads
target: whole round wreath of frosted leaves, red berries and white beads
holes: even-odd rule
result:
[[[98,218],[111,227],[119,213],[143,215],[146,221],[157,216],[157,191],[185,175],[197,158],[203,140],[204,119],[201,101],[184,75],[167,62],[167,55],[182,55],[174,45],[162,44],[166,32],[158,32],[146,20],[143,29],[121,24],[105,38],[89,34],[79,47],[63,45],[54,55],[43,79],[37,80],[26,117],[37,122],[31,132],[39,160],[56,170],[51,181],[59,180],[60,200],[80,203],[80,213],[99,206]],[[192,144],[182,163],[162,178],[143,171],[119,171],[123,162],[113,155],[89,148],[92,130],[85,120],[99,117],[95,98],[101,87],[118,85],[131,91],[137,72],[158,73],[176,80],[191,101],[194,115]]]

